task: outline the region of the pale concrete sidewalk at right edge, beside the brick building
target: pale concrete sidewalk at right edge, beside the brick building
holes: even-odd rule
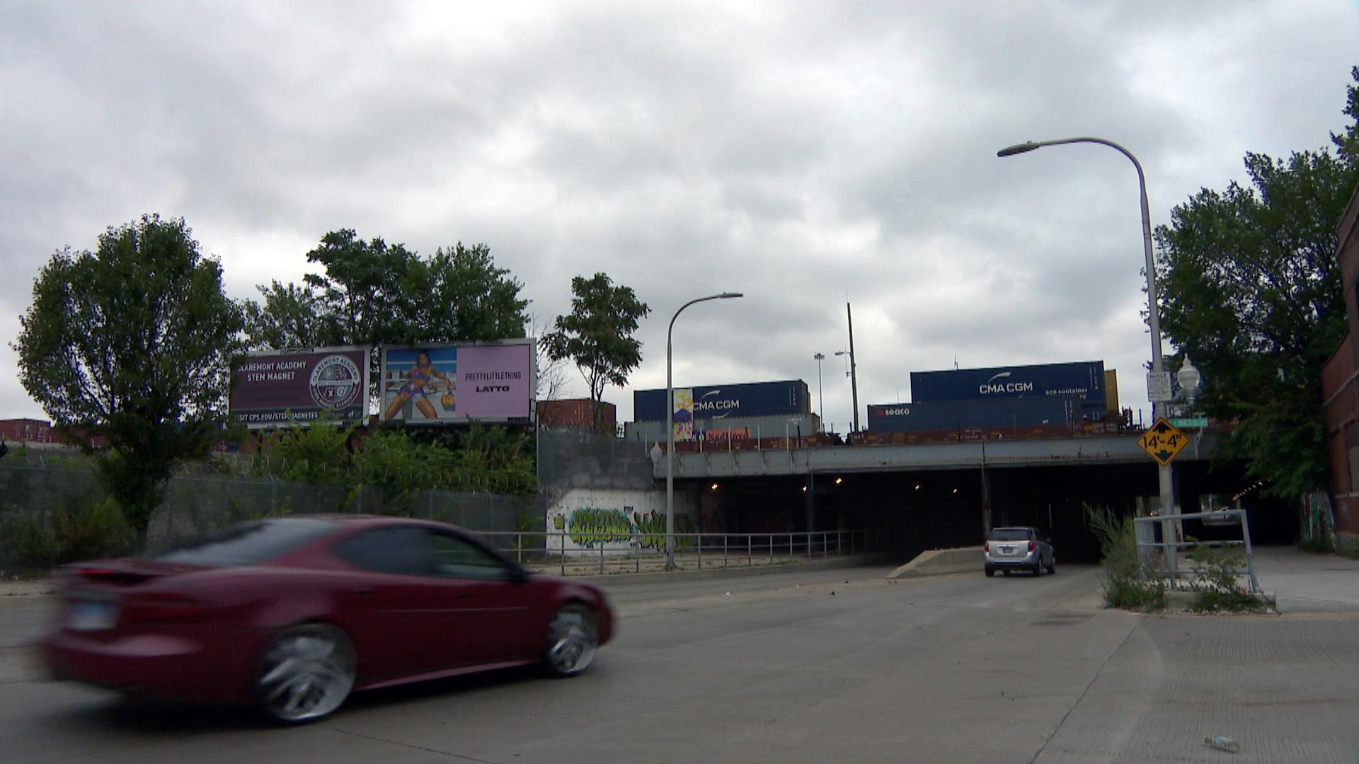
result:
[[[1280,613],[1359,613],[1359,560],[1294,546],[1256,546],[1256,578]]]

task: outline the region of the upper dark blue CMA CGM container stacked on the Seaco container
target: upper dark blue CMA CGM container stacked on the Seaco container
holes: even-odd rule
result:
[[[1104,382],[1102,360],[912,371],[911,400],[925,402],[1079,396],[1083,408],[1102,409]]]

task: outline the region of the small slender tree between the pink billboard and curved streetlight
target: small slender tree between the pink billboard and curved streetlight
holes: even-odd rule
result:
[[[613,285],[605,273],[571,280],[571,313],[559,315],[542,341],[552,359],[571,359],[590,386],[594,431],[599,432],[599,401],[606,385],[628,383],[641,363],[641,343],[633,338],[637,321],[651,313],[629,287]]]

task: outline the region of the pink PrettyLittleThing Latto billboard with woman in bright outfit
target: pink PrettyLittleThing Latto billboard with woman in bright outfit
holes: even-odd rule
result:
[[[533,340],[383,348],[383,421],[533,421]]]

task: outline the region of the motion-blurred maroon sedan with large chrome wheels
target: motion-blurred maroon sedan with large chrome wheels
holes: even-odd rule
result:
[[[597,587],[414,519],[264,519],[63,572],[65,614],[42,642],[58,678],[258,703],[281,722],[355,689],[538,662],[578,674],[613,632]]]

